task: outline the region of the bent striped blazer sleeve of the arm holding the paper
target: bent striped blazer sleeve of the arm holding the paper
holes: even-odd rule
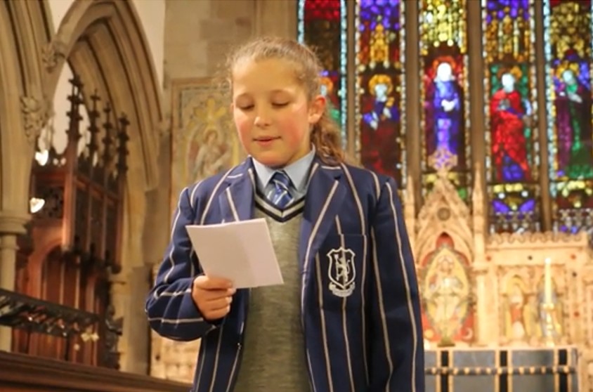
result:
[[[202,318],[192,299],[195,276],[201,272],[185,226],[195,222],[189,189],[179,197],[171,240],[145,303],[150,327],[162,337],[191,341],[214,328]]]

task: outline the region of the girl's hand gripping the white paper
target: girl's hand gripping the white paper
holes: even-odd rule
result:
[[[205,320],[218,320],[230,312],[233,282],[220,277],[200,275],[193,281],[192,299]]]

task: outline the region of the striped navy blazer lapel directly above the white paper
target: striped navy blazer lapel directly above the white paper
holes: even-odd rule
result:
[[[245,160],[226,177],[228,186],[219,195],[223,222],[247,221],[253,218],[254,167],[251,159]]]

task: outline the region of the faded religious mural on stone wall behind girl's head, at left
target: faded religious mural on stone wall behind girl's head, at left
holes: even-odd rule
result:
[[[183,187],[237,164],[243,153],[230,98],[212,79],[174,81],[171,200]]]

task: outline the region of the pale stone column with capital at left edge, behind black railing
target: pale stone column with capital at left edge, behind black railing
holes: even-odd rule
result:
[[[0,211],[0,287],[15,288],[17,235],[25,233],[29,216],[13,211]],[[0,351],[11,351],[12,329],[0,327]]]

